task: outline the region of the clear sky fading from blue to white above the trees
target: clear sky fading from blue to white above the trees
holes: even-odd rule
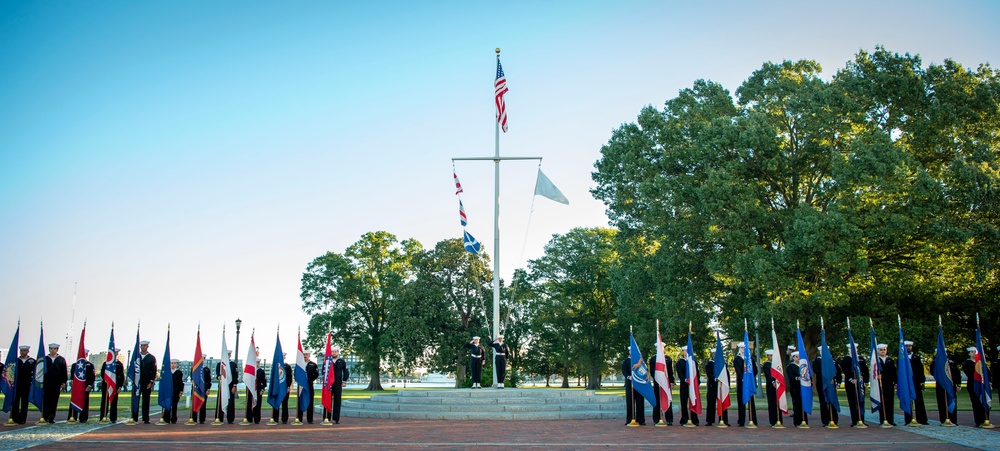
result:
[[[0,2],[0,352],[18,320],[32,355],[44,322],[75,357],[85,320],[91,352],[114,322],[162,355],[169,324],[189,360],[200,324],[218,357],[237,318],[241,358],[251,332],[294,349],[310,261],[370,231],[461,236],[452,158],[494,153],[498,47],[500,154],[543,158],[570,200],[533,198],[537,162],[501,165],[506,279],[608,225],[591,172],[644,106],[766,61],[828,78],[876,45],[997,65],[998,22],[982,0]],[[493,165],[454,168],[492,254]]]

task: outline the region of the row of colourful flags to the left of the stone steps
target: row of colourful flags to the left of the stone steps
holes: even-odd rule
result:
[[[73,362],[71,366],[70,374],[72,375],[72,390],[70,395],[70,407],[76,412],[81,412],[84,405],[84,397],[87,395],[85,390],[86,385],[86,363],[87,354],[86,346],[84,341],[87,333],[87,325],[84,323],[83,330],[80,331],[80,344],[78,347],[76,361]],[[0,373],[0,393],[4,395],[3,411],[10,412],[13,407],[14,402],[14,392],[16,390],[17,384],[17,365],[18,365],[18,348],[20,346],[20,335],[21,335],[21,323],[18,321],[17,329],[14,332],[14,338],[11,340],[10,351],[7,353],[7,358],[4,361],[4,371]],[[35,358],[35,373],[32,377],[32,384],[28,394],[28,400],[31,404],[34,404],[39,410],[42,408],[42,382],[46,371],[48,371],[48,363],[45,358],[44,349],[46,349],[44,340],[44,327],[39,331],[38,335],[38,352]],[[323,382],[323,407],[327,410],[333,409],[333,398],[331,396],[331,387],[334,383],[337,383],[336,373],[334,371],[334,359],[333,359],[333,348],[332,348],[332,335],[327,334],[326,336],[326,353],[323,359],[323,366],[321,372],[321,380]],[[140,374],[142,367],[142,356],[139,352],[140,336],[139,328],[136,327],[135,332],[135,348],[132,350],[132,359],[128,364],[126,371],[126,377],[132,383],[132,411],[136,412],[139,409],[139,390],[140,390]],[[114,397],[116,393],[121,389],[117,385],[116,376],[116,365],[114,365],[117,352],[115,351],[115,329],[114,324],[111,325],[111,336],[108,339],[108,352],[105,358],[105,374],[104,374],[104,384],[107,387],[107,396],[109,398]],[[194,360],[192,365],[192,375],[202,374],[205,360],[202,357],[201,348],[201,327],[198,327],[197,339],[195,341],[194,350]],[[159,378],[159,389],[158,389],[158,404],[164,409],[170,409],[173,402],[173,377],[170,370],[170,326],[167,326],[167,341],[166,348],[163,351],[162,356],[163,364],[160,368],[160,378]],[[268,404],[273,408],[280,408],[281,404],[285,400],[285,396],[288,392],[288,386],[290,385],[288,377],[291,375],[286,374],[284,365],[284,353],[281,350],[281,339],[277,338],[277,344],[274,350],[274,359],[271,367],[271,384],[270,390],[268,391],[267,401]],[[219,365],[219,372],[216,375],[219,378],[219,387],[228,387],[233,381],[236,375],[231,374],[231,365],[229,361],[229,349],[226,346],[226,334],[225,329],[222,333],[222,359]],[[191,409],[193,412],[199,412],[204,408],[207,391],[205,387],[205,382],[203,378],[192,377],[193,381],[191,387],[192,403]],[[256,399],[256,380],[257,380],[257,346],[254,342],[254,336],[250,335],[250,346],[247,349],[247,358],[245,360],[242,380],[246,387],[250,389],[251,397],[248,400],[250,406],[256,406],[261,400]],[[305,387],[309,385],[308,375],[306,373],[306,359],[305,352],[302,347],[302,334],[298,335],[298,350],[295,358],[295,370],[294,370],[294,380],[298,383],[298,409],[299,411],[305,411],[309,405],[309,395],[306,393]],[[226,405],[229,403],[230,392],[229,390],[219,390],[219,405]]]

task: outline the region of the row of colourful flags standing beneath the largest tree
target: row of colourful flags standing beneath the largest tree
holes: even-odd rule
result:
[[[896,390],[897,396],[899,398],[899,404],[901,409],[906,413],[911,413],[910,405],[911,401],[916,399],[916,387],[913,384],[913,368],[910,366],[909,352],[906,349],[905,338],[903,336],[902,320],[900,319],[899,325],[899,347],[898,347],[898,370]],[[822,319],[820,319],[820,324],[822,325]],[[875,327],[871,326],[870,330],[871,342],[870,342],[870,367],[869,367],[869,383],[870,389],[868,393],[868,399],[871,403],[871,411],[878,412],[882,405],[882,390],[880,382],[882,380],[882,370],[883,363],[878,355],[878,339],[875,335]],[[805,344],[802,340],[802,330],[796,325],[795,330],[796,340],[799,350],[805,349]],[[788,387],[785,382],[784,365],[781,360],[781,352],[778,347],[778,335],[774,330],[774,324],[771,324],[771,355],[769,357],[771,368],[770,375],[774,378],[776,382],[775,393],[778,401],[778,409],[783,414],[788,414],[788,401],[785,397]],[[850,344],[850,357],[851,365],[854,369],[854,374],[862,374],[860,356],[858,354],[857,346],[854,342],[854,336],[851,332],[850,319],[847,322],[847,339]],[[651,406],[656,406],[657,399],[659,399],[660,409],[667,410],[671,407],[672,398],[670,392],[670,382],[667,379],[667,369],[664,364],[666,361],[663,352],[663,340],[660,337],[659,331],[659,321],[657,321],[657,331],[656,331],[656,363],[653,368],[652,380],[648,375],[648,370],[646,364],[643,361],[642,354],[639,352],[639,347],[635,342],[635,337],[629,333],[629,361],[632,364],[632,389],[637,391],[642,397],[649,402]],[[989,370],[987,368],[986,362],[984,360],[984,350],[982,337],[980,333],[980,328],[978,325],[978,315],[977,315],[977,325],[976,325],[976,353],[975,353],[975,374],[973,379],[973,393],[979,397],[980,402],[986,408],[987,411],[990,410],[992,406],[992,393],[990,387],[990,377]],[[741,353],[744,362],[744,371],[742,375],[737,375],[737,377],[742,377],[743,392],[741,393],[741,398],[744,404],[749,403],[751,397],[757,393],[757,383],[756,374],[753,371],[752,357],[750,354],[749,345],[749,332],[746,328],[743,331],[743,346],[741,346]],[[684,359],[687,362],[687,372],[686,374],[679,375],[684,379],[688,385],[688,405],[682,406],[681,408],[688,408],[696,414],[700,414],[702,411],[701,403],[701,393],[698,390],[700,381],[698,379],[697,371],[697,361],[694,358],[694,348],[691,342],[691,330],[688,330],[687,336],[687,346],[685,346],[685,356]],[[715,381],[718,382],[718,392],[717,392],[717,404],[716,411],[721,412],[728,409],[731,405],[730,399],[730,387],[729,387],[729,371],[726,366],[725,354],[722,347],[722,338],[716,333],[716,345],[714,352],[714,367],[713,374],[709,375]],[[819,389],[823,391],[823,398],[830,405],[830,408],[840,412],[840,402],[837,398],[837,389],[835,383],[836,377],[836,367],[834,366],[833,354],[830,352],[830,348],[826,343],[826,329],[821,328],[820,330],[820,380],[819,386],[814,389],[812,380],[812,364],[809,359],[806,358],[803,352],[799,356],[798,364],[800,368],[800,381],[801,381],[801,393],[802,396],[802,410],[806,414],[812,413],[813,405],[813,393],[814,390]],[[956,402],[956,384],[960,381],[953,381],[951,379],[951,372],[948,370],[948,354],[944,343],[944,328],[938,325],[938,343],[937,349],[934,355],[934,362],[932,364],[932,373],[937,384],[941,386],[946,395],[947,408],[949,412],[955,412],[957,405]],[[659,385],[659,392],[654,393],[652,381],[656,381]],[[861,411],[865,409],[865,396],[864,396],[864,384],[855,384],[855,389],[857,390],[857,399],[859,402],[859,408]]]

